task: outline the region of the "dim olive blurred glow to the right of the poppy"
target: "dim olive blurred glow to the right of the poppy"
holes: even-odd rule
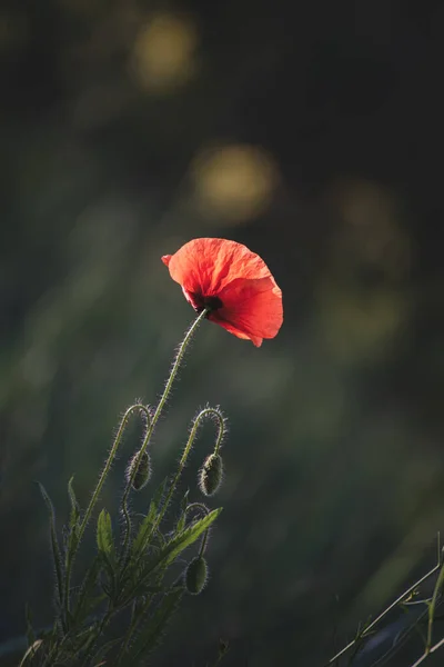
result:
[[[321,335],[342,364],[381,359],[407,326],[404,281],[411,240],[392,191],[364,179],[337,179],[326,192],[341,225],[320,279]]]

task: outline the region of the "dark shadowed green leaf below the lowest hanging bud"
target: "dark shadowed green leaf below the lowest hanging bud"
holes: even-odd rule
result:
[[[183,587],[179,586],[162,597],[154,615],[145,624],[145,631],[141,633],[134,641],[127,665],[135,665],[157,647],[163,637],[167,624],[178,609],[182,596]]]

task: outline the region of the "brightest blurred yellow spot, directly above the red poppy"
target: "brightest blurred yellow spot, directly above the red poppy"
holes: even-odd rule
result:
[[[246,145],[203,150],[191,166],[191,176],[200,212],[232,223],[265,210],[279,182],[271,156]]]

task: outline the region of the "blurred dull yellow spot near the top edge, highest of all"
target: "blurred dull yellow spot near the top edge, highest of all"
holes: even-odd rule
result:
[[[139,31],[132,71],[149,92],[165,93],[186,83],[196,64],[198,29],[190,17],[159,13]]]

